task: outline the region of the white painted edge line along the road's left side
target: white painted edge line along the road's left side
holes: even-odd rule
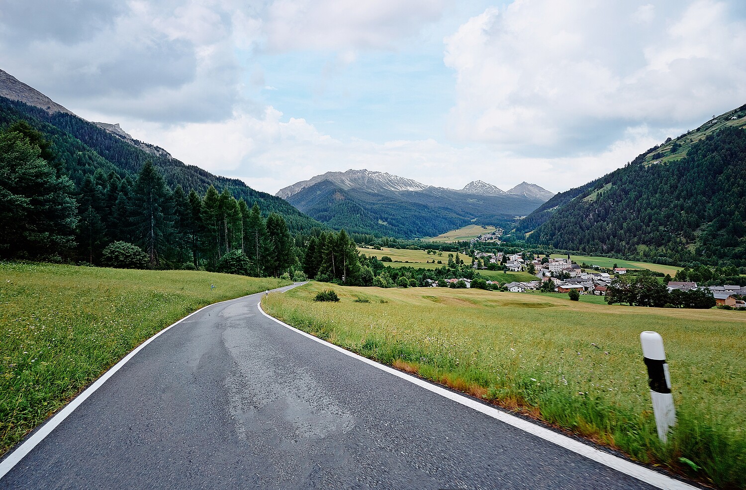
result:
[[[273,289],[273,291],[287,291],[287,289],[292,289],[295,286],[300,286],[300,284],[293,284],[292,286],[283,286],[282,288]],[[255,292],[254,295],[263,295],[264,292]],[[112,368],[109,369],[109,371],[106,371],[104,374],[101,375],[101,377],[98,378],[98,380],[95,380],[91,386],[89,386],[87,389],[84,390],[80,395],[73,398],[73,400],[68,403],[66,406],[63,407],[59,412],[57,412],[55,415],[50,418],[46,424],[44,424],[42,427],[40,427],[35,433],[31,434],[31,436],[23,442],[22,445],[19,447],[16,447],[15,450],[13,450],[12,453],[7,455],[5,459],[0,461],[0,480],[7,474],[8,471],[13,469],[13,466],[17,465],[21,459],[23,459],[28,453],[31,452],[34,447],[36,447],[40,442],[44,440],[46,436],[51,433],[52,430],[54,430],[55,427],[60,425],[62,421],[64,421],[78,406],[80,406],[81,403],[87,400],[90,395],[93,395],[93,393],[101,388],[101,385],[106,383],[106,380],[108,380],[110,377],[112,377],[116,371],[119,371],[119,369],[122,368],[127,362],[132,359],[135,354],[140,352],[143,348],[145,348],[146,345],[153,342],[157,337],[159,337],[162,333],[166,332],[166,330],[170,330],[172,327],[175,327],[176,325],[180,324],[182,321],[186,320],[186,318],[189,318],[192,315],[196,315],[198,312],[201,312],[205,308],[214,307],[216,304],[223,304],[228,303],[230,301],[237,301],[243,298],[247,298],[248,296],[253,295],[246,295],[241,296],[240,298],[233,298],[230,300],[225,301],[219,301],[217,303],[208,304],[206,307],[201,307],[199,310],[195,312],[189,313],[189,315],[186,315],[184,318],[181,318],[181,320],[177,321],[174,324],[169,325],[168,327],[164,328],[163,330],[160,330],[160,332],[156,333],[154,336],[152,336],[150,339],[146,340],[145,342],[142,342],[142,344],[138,345],[137,348],[135,348],[134,351],[132,351],[130,354],[127,354],[121,361],[117,362],[115,365],[113,365]]]

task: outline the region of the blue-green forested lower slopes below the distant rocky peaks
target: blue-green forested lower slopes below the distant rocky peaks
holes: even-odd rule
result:
[[[440,188],[421,191],[342,189],[329,180],[290,195],[299,210],[333,228],[376,236],[438,236],[466,224],[505,227],[536,209],[523,195],[476,195]]]

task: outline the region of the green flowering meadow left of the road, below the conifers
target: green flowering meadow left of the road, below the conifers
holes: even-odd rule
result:
[[[286,284],[0,262],[0,456],[154,333],[207,304]]]

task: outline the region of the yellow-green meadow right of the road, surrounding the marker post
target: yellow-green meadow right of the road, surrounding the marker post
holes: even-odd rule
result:
[[[328,287],[339,303],[312,301]],[[639,461],[720,488],[746,485],[742,312],[323,283],[269,295],[263,308],[351,351],[541,418]],[[661,333],[671,368],[679,424],[665,446],[656,435],[642,330]]]

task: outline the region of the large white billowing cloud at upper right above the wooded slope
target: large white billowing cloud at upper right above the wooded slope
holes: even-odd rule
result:
[[[515,1],[445,45],[451,135],[521,154],[603,151],[629,126],[688,125],[746,98],[746,24],[722,2]]]

